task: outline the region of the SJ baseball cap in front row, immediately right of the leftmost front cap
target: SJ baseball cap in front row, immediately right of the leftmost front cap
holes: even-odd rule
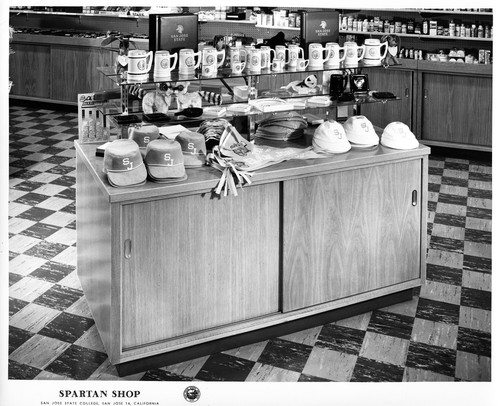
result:
[[[144,162],[149,177],[155,182],[187,179],[181,145],[175,140],[159,138],[148,143]]]

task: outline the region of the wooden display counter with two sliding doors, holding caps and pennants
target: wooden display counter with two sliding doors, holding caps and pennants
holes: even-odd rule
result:
[[[96,144],[75,146],[77,271],[120,374],[407,300],[425,277],[428,147],[290,160],[220,198],[211,167],[113,188]]]

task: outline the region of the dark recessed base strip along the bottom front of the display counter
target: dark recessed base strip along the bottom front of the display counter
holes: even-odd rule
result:
[[[277,324],[262,329],[249,331],[235,336],[221,338],[219,340],[182,348],[163,354],[158,354],[134,361],[128,361],[115,365],[118,376],[123,377],[139,372],[144,372],[151,368],[159,368],[167,365],[177,364],[190,359],[203,357],[213,353],[229,350],[231,348],[249,345],[273,337],[280,337],[297,331],[332,323],[358,314],[366,313],[381,307],[391,306],[396,303],[411,300],[414,289],[406,289],[401,292],[366,300],[350,306],[326,311],[302,319]]]

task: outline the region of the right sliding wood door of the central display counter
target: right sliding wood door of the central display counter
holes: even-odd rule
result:
[[[284,182],[283,309],[420,276],[420,160]]]

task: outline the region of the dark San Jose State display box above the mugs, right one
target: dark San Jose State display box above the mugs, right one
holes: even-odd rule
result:
[[[306,59],[309,57],[309,44],[324,45],[327,42],[338,42],[339,13],[337,11],[302,11],[300,37]]]

